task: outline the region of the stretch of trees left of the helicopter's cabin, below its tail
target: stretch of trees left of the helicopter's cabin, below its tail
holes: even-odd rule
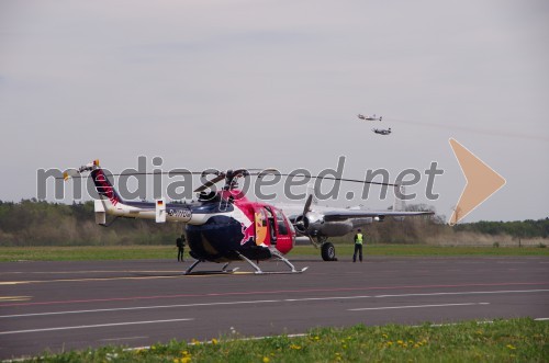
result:
[[[0,201],[0,246],[173,245],[180,224],[117,218],[96,224],[93,202]]]

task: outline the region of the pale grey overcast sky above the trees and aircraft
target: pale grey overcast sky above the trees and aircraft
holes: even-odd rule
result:
[[[545,218],[548,19],[547,1],[0,0],[0,200],[97,158],[314,172],[346,156],[357,179],[437,161],[440,198],[416,202],[450,215],[453,137],[507,180],[466,220]]]

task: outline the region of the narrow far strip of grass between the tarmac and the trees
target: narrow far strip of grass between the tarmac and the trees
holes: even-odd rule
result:
[[[336,245],[339,258],[352,256],[352,245]],[[186,249],[188,253],[188,249]],[[186,253],[186,254],[187,254]],[[439,247],[427,245],[370,245],[368,256],[545,256],[548,248],[538,247]],[[296,256],[318,257],[312,246],[296,246],[289,258]],[[83,246],[83,247],[0,247],[0,261],[83,261],[83,260],[141,260],[176,259],[177,249],[171,246]]]

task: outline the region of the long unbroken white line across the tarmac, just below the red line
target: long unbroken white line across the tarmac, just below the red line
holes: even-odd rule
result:
[[[147,310],[147,309],[166,309],[166,308],[203,307],[203,306],[224,306],[224,305],[227,306],[227,305],[246,305],[246,304],[304,303],[304,302],[349,300],[349,299],[361,299],[361,298],[410,297],[410,296],[525,294],[525,293],[528,294],[528,293],[544,293],[544,292],[549,292],[549,290],[520,290],[520,291],[505,290],[505,291],[486,291],[486,292],[457,292],[457,293],[429,293],[429,294],[303,297],[303,298],[285,298],[285,299],[268,299],[268,300],[216,302],[216,303],[177,304],[177,305],[133,306],[133,307],[87,309],[87,310],[46,311],[46,313],[2,315],[2,316],[0,316],[0,318],[7,319],[7,318],[25,318],[25,317],[35,317],[35,316],[49,316],[49,315],[90,314],[90,313]]]

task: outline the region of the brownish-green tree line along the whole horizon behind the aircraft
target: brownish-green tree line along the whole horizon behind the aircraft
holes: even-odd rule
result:
[[[424,211],[425,205],[406,209]],[[366,228],[369,242],[424,243],[474,240],[480,237],[549,238],[549,218],[522,222],[477,222],[449,227],[444,216],[413,217],[402,222],[385,218]],[[98,226],[93,203],[59,204],[23,200],[0,201],[0,246],[109,246],[175,245],[182,225],[146,219],[119,218],[108,228]],[[351,242],[352,236],[348,241]],[[336,240],[347,241],[346,238]]]

